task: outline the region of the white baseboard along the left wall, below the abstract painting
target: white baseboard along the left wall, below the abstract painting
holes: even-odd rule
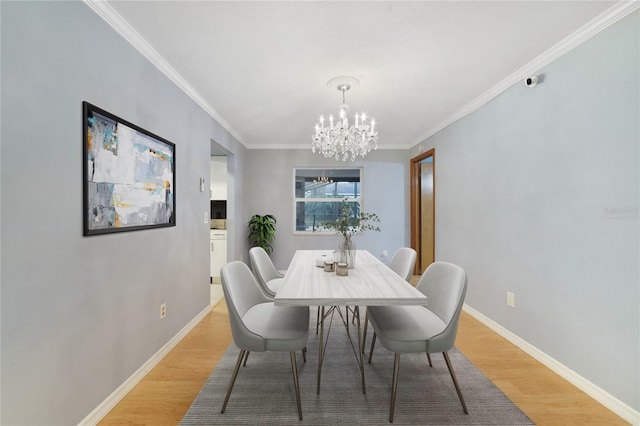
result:
[[[113,393],[109,395],[107,399],[102,401],[102,403],[98,405],[91,413],[89,413],[89,415],[85,417],[79,423],[79,425],[97,425],[98,422],[102,420],[104,416],[106,416],[109,411],[111,411],[111,409],[113,409],[113,407],[115,407],[116,404],[120,402],[120,400],[122,400],[122,398],[124,398],[131,391],[131,389],[133,389],[134,386],[137,385],[140,380],[142,380],[144,376],[146,376],[147,373],[149,373],[149,371],[153,369],[153,367],[155,367],[160,361],[162,361],[162,358],[164,358],[169,352],[171,352],[171,350],[175,348],[178,343],[180,343],[180,341],[187,334],[189,334],[189,332],[193,330],[193,328],[198,325],[198,323],[202,321],[205,316],[207,316],[209,312],[211,312],[212,308],[212,305],[207,306],[194,319],[189,321],[189,323],[185,325],[184,328],[178,332],[178,334],[173,336],[171,340],[169,340],[163,347],[161,347],[158,352],[156,352],[151,358],[147,360],[147,362],[142,364],[142,366],[138,368],[138,370],[133,373],[131,377],[129,377],[124,381],[124,383],[118,386],[118,388],[113,391]]]

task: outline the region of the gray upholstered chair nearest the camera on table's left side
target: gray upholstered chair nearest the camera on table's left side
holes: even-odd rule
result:
[[[234,343],[240,348],[220,412],[224,413],[227,406],[245,353],[283,351],[289,352],[291,357],[298,417],[302,420],[295,351],[300,349],[304,353],[307,346],[309,307],[274,305],[243,262],[226,264],[220,271],[220,277],[229,311],[231,334]]]

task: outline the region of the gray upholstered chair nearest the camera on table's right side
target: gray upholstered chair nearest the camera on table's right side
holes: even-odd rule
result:
[[[424,352],[428,355],[442,352],[462,409],[465,414],[468,413],[447,353],[456,340],[458,319],[467,291],[467,275],[457,265],[434,262],[424,271],[416,288],[427,296],[426,305],[371,306],[368,309],[369,321],[374,331],[369,363],[376,337],[380,339],[382,346],[395,352],[389,422],[393,422],[401,353]]]

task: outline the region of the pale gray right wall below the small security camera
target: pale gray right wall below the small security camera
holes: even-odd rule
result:
[[[423,142],[436,259],[467,270],[467,304],[635,410],[639,16]]]

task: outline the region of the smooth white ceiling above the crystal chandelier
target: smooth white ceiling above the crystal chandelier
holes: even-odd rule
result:
[[[347,103],[351,115],[375,117],[380,148],[412,147],[539,72],[621,8],[611,0],[90,6],[248,148],[309,148],[320,114],[338,113],[341,94],[327,82],[339,75],[360,80]]]

